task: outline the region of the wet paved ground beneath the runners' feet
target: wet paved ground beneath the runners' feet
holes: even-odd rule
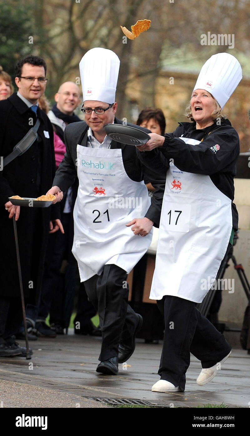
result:
[[[24,346],[24,341],[19,341]],[[198,386],[201,365],[191,355],[185,392],[151,392],[157,375],[162,344],[137,347],[126,364],[119,365],[117,376],[96,372],[100,337],[69,335],[30,342],[31,360],[0,358],[1,407],[93,408],[129,400],[138,404],[165,407],[196,407],[207,403],[230,408],[250,407],[250,355],[234,348],[217,376],[205,386]],[[127,402],[127,401],[125,401]]]

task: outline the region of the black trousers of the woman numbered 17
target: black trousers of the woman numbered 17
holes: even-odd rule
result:
[[[166,295],[157,300],[165,318],[163,349],[158,374],[163,380],[185,388],[190,352],[210,368],[231,350],[222,334],[195,307],[193,301]]]

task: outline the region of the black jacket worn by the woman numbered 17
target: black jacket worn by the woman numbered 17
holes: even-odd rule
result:
[[[173,133],[166,133],[162,147],[140,153],[140,160],[148,168],[173,162],[181,171],[210,176],[213,184],[232,200],[233,228],[238,228],[238,213],[234,198],[233,177],[236,175],[240,141],[237,131],[228,119],[213,123],[205,129],[196,129],[196,123],[179,123]],[[180,137],[201,141],[197,145],[185,143]]]

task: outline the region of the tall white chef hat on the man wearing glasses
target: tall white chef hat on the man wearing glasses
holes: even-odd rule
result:
[[[120,59],[106,48],[92,48],[80,61],[83,102],[97,100],[114,103]]]

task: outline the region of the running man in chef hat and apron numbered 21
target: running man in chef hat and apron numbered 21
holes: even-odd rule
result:
[[[91,49],[80,61],[86,122],[66,127],[66,154],[49,191],[60,199],[60,191],[79,179],[72,251],[99,313],[103,341],[97,372],[110,375],[117,374],[118,362],[126,361],[135,348],[142,317],[127,304],[127,274],[147,251],[153,223],[160,221],[160,201],[154,198],[150,205],[136,148],[111,141],[103,128],[122,124],[115,118],[119,67],[117,55],[104,48]],[[155,180],[150,181],[160,198],[164,180]],[[117,198],[140,201],[120,208],[112,200]]]

